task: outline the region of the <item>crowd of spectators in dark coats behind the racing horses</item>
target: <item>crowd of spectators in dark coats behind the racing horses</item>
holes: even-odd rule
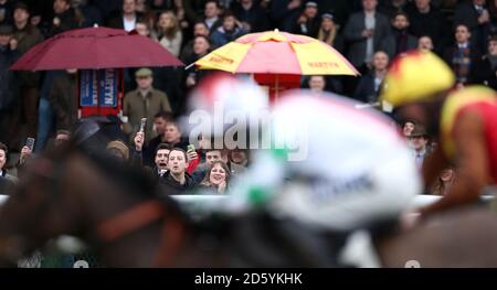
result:
[[[77,120],[76,71],[12,72],[9,67],[43,40],[94,24],[136,31],[186,65],[246,33],[277,28],[305,34],[342,53],[361,76],[303,77],[302,86],[370,104],[378,101],[390,60],[412,49],[442,56],[459,87],[497,88],[497,1],[493,0],[0,0],[0,142],[6,144],[0,147],[0,174],[32,153],[23,147],[27,137],[34,137],[34,150],[41,151],[66,139]],[[248,152],[189,148],[173,121],[205,74],[194,67],[125,69],[127,120],[121,141],[109,143],[108,150],[142,162],[171,191],[200,184],[224,192],[230,179],[247,164]],[[149,122],[139,132],[144,117]],[[422,160],[430,152],[430,137],[422,128],[414,129],[406,137]],[[2,151],[20,157],[6,164]],[[446,175],[434,190],[438,194],[453,179],[452,169]]]

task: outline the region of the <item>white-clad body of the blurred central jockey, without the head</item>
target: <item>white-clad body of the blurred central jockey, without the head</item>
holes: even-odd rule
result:
[[[233,186],[231,211],[263,206],[310,227],[351,232],[396,221],[421,191],[410,148],[391,120],[356,101],[295,90],[275,106],[271,150]]]

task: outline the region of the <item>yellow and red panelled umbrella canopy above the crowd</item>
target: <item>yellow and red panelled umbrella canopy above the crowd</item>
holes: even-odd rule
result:
[[[239,37],[194,63],[231,73],[359,75],[339,52],[316,39],[267,31]]]

